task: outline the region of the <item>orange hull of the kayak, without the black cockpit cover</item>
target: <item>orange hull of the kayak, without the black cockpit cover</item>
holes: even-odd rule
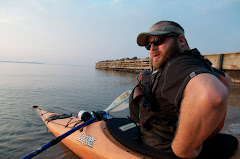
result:
[[[77,117],[56,119],[48,122],[46,119],[59,114],[47,112],[38,107],[34,109],[55,136],[60,136],[71,130],[73,127],[81,124],[80,119]],[[64,138],[62,143],[83,159],[148,158],[129,150],[117,142],[106,129],[106,123],[104,121],[94,122],[84,127],[82,130],[77,130]]]

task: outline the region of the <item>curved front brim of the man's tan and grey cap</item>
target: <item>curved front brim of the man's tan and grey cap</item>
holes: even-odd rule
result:
[[[169,34],[171,31],[154,31],[154,32],[144,32],[140,33],[137,37],[137,44],[139,46],[145,46],[147,45],[148,36],[158,36],[158,35],[164,35]]]

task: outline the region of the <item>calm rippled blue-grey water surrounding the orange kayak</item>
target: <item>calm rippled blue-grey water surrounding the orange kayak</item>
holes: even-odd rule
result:
[[[0,63],[0,159],[21,158],[49,142],[47,131],[31,105],[77,115],[103,110],[136,84],[136,74],[95,70],[94,67]],[[229,98],[224,132],[240,136],[240,85]],[[126,116],[128,111],[113,113]],[[63,144],[36,158],[77,159]]]

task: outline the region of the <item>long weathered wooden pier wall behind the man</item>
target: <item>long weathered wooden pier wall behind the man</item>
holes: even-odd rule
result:
[[[240,83],[240,52],[218,53],[203,55],[212,62],[212,66],[223,70],[232,77],[233,82]],[[122,59],[107,60],[96,63],[96,69],[140,72],[142,70],[152,70],[149,59]]]

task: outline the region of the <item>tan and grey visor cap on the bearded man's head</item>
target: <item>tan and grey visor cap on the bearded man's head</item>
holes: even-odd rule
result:
[[[184,35],[184,31],[178,27],[172,26],[172,25],[161,25],[161,24],[154,24],[148,32],[140,33],[137,37],[137,44],[139,46],[145,46],[148,43],[148,36],[158,36],[158,35],[164,35],[169,33],[176,33]]]

